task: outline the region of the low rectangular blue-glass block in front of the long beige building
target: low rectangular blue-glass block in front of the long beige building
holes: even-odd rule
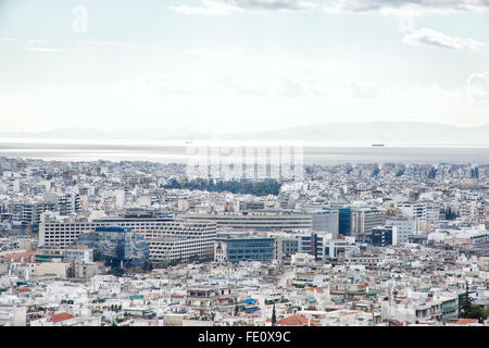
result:
[[[215,261],[271,261],[275,259],[275,238],[226,236],[214,241]]]

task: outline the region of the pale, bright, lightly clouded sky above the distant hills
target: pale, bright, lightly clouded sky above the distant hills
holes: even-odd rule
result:
[[[489,123],[487,0],[0,0],[0,133]]]

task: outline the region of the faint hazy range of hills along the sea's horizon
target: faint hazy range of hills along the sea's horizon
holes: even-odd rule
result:
[[[172,134],[172,135],[168,135]],[[103,132],[91,128],[65,128],[41,133],[0,133],[0,138],[45,139],[148,139],[211,140],[215,135],[185,134],[181,129],[128,129]],[[326,123],[278,130],[221,134],[220,140],[325,141],[325,142],[412,142],[489,145],[489,124],[476,127],[422,122]]]

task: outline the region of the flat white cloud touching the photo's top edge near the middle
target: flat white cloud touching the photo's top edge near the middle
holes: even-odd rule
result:
[[[311,10],[315,4],[305,0],[202,0],[202,5],[170,7],[181,14],[228,14],[233,12],[256,11],[300,11]]]

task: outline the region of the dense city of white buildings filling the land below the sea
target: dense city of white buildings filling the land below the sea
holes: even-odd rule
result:
[[[0,158],[0,325],[487,326],[489,165]]]

